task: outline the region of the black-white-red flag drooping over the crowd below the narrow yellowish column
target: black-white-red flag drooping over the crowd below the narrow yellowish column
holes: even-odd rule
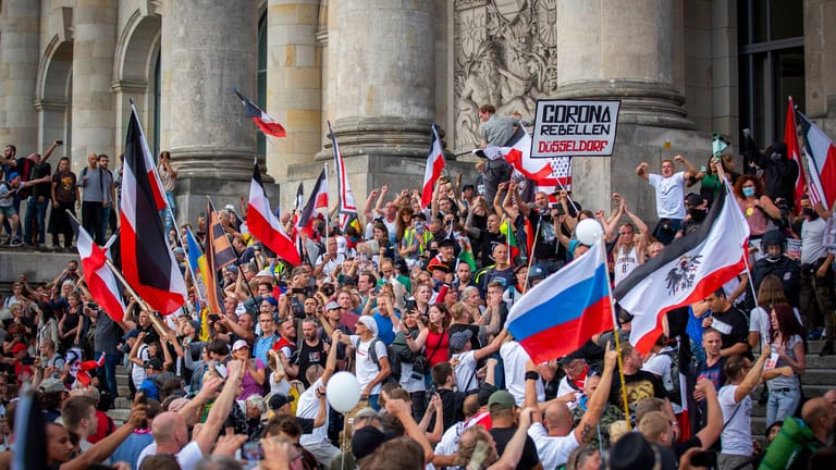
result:
[[[279,258],[293,265],[302,264],[293,240],[282,230],[282,224],[270,210],[270,201],[261,183],[258,163],[253,164],[253,181],[249,184],[249,208],[247,209],[249,232]]]

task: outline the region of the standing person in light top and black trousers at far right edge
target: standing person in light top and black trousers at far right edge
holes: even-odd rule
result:
[[[826,343],[820,354],[833,354],[833,263],[834,250],[824,245],[826,219],[829,213],[820,205],[813,207],[810,197],[801,197],[801,288],[799,293],[801,317],[808,332],[819,336]]]

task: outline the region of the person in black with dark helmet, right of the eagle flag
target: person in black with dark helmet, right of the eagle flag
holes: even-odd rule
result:
[[[792,307],[798,308],[798,293],[801,285],[801,265],[797,260],[786,256],[787,238],[779,230],[763,234],[761,248],[764,257],[752,267],[752,285],[754,292],[760,292],[761,282],[770,274],[780,280],[784,293]]]

